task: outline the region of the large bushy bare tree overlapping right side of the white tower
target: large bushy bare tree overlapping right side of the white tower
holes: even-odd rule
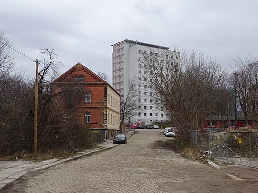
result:
[[[189,139],[189,131],[201,129],[214,109],[226,71],[198,51],[150,52],[144,54],[143,63],[158,103],[178,127],[179,137]]]

